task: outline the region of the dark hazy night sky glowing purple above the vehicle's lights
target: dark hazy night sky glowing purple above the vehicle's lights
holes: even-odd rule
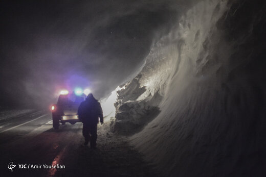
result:
[[[106,97],[135,77],[186,5],[1,1],[0,106],[48,105],[60,89],[77,86]]]

